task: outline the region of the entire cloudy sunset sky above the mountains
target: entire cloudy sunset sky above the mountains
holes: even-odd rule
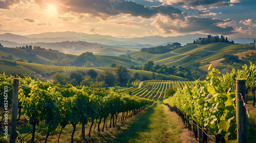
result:
[[[256,37],[255,0],[0,0],[0,34]]]

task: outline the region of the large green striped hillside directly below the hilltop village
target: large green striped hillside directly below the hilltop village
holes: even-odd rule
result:
[[[143,58],[153,60],[155,64],[166,64],[167,66],[181,65],[191,66],[200,63],[201,66],[209,65],[209,62],[222,59],[224,55],[239,55],[239,53],[250,51],[256,52],[255,45],[210,43],[206,45],[187,44],[183,47],[164,54],[150,54],[146,52],[135,52],[131,56],[134,59]],[[222,60],[221,60],[222,61]],[[218,62],[221,62],[220,60]]]

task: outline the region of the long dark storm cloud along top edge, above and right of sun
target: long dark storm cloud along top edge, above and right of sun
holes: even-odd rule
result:
[[[46,8],[47,4],[54,4],[57,6],[58,13],[77,12],[87,13],[94,17],[101,19],[108,19],[110,16],[118,14],[130,14],[132,16],[140,16],[142,18],[151,18],[158,13],[167,14],[170,18],[180,18],[181,11],[171,6],[158,6],[148,8],[144,5],[137,4],[132,1],[124,0],[58,0],[52,2],[50,0],[36,0],[41,8]]]

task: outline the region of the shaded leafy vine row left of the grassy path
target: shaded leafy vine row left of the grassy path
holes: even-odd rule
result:
[[[13,79],[13,76],[0,75],[1,83],[12,84]],[[124,93],[117,94],[105,88],[74,87],[72,85],[60,86],[48,82],[35,81],[30,77],[20,79],[19,84],[30,87],[20,86],[18,98],[20,111],[28,116],[29,124],[33,126],[31,142],[34,141],[36,126],[40,121],[45,122],[45,125],[47,125],[48,133],[46,140],[49,133],[54,131],[57,126],[65,128],[68,124],[72,124],[74,130],[71,141],[73,142],[77,124],[82,125],[81,134],[82,137],[85,137],[84,126],[88,122],[91,122],[93,125],[96,117],[100,121],[103,118],[103,124],[105,124],[106,117],[111,116],[114,126],[114,116],[118,116],[118,113],[123,113],[123,115],[126,114],[127,116],[130,111],[130,115],[135,115],[145,105],[153,103],[152,100],[132,97]],[[4,86],[7,85],[0,84],[0,89],[4,89]],[[11,87],[12,85],[8,85],[9,89]],[[8,103],[12,103],[11,92],[11,90],[8,92]],[[1,103],[4,100],[3,95],[1,94],[0,97]],[[9,104],[10,107],[11,104]],[[3,108],[3,104],[0,108]]]

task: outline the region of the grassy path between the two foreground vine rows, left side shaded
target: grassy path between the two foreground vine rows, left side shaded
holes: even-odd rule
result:
[[[113,142],[182,142],[177,118],[163,103],[155,103]]]

